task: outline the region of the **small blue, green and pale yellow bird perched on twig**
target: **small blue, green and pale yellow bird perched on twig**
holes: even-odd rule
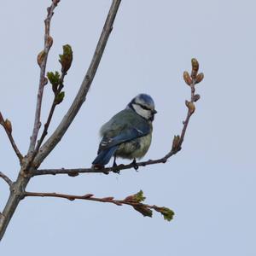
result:
[[[155,113],[157,111],[151,96],[144,93],[135,96],[125,109],[102,125],[102,140],[92,167],[103,169],[111,157],[114,158],[113,166],[117,166],[116,158],[120,157],[133,160],[137,170],[136,159],[143,158],[151,144]]]

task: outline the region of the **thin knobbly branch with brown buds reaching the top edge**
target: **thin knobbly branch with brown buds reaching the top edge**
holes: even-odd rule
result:
[[[52,16],[54,15],[54,9],[57,6],[57,3],[60,1],[53,1],[50,7],[47,9],[47,17],[44,20],[44,50],[41,51],[38,55],[38,65],[40,66],[40,79],[39,79],[39,87],[38,87],[38,101],[35,113],[35,120],[34,126],[32,131],[31,142],[29,145],[28,153],[32,153],[36,146],[37,138],[38,138],[38,131],[41,126],[40,116],[41,116],[41,106],[42,106],[42,99],[44,94],[44,85],[47,83],[47,79],[45,79],[45,69],[49,54],[49,49],[53,44],[53,39],[49,36],[49,27],[50,21]]]

